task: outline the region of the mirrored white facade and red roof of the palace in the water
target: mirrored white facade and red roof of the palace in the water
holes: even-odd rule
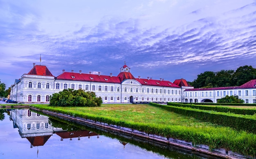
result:
[[[10,111],[10,119],[13,121],[13,128],[18,128],[20,136],[27,138],[33,146],[43,146],[47,140],[55,133],[63,139],[80,140],[81,137],[97,136],[99,134],[92,131],[66,131],[62,128],[53,127],[49,123],[49,117],[32,112],[29,109],[13,109]]]

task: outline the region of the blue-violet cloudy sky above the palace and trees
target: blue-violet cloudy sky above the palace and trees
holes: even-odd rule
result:
[[[0,55],[7,88],[33,63],[171,82],[256,68],[256,0],[0,0]]]

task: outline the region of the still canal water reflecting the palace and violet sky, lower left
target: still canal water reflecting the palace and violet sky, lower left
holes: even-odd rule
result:
[[[0,159],[218,159],[40,114],[0,109]]]

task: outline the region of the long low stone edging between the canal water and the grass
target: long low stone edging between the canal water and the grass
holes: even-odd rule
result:
[[[63,114],[63,113],[56,113],[56,112],[48,111],[48,110],[40,110],[35,107],[30,107],[30,109],[35,110],[35,111],[40,111],[45,114],[73,120],[73,121],[92,124],[92,125],[103,127],[103,128],[110,129],[113,131],[119,131],[119,132],[131,134],[131,135],[136,135],[138,137],[155,140],[157,142],[162,142],[162,143],[170,144],[173,146],[178,146],[181,148],[193,150],[195,152],[201,152],[201,153],[208,154],[208,155],[213,155],[213,156],[222,157],[222,158],[226,158],[226,159],[248,159],[248,157],[246,157],[244,155],[241,155],[236,152],[229,151],[229,150],[225,150],[223,148],[212,149],[210,151],[209,146],[207,146],[207,145],[201,145],[201,144],[193,145],[192,142],[186,142],[186,141],[179,140],[179,139],[173,139],[171,137],[163,137],[163,136],[159,136],[159,135],[155,135],[155,134],[149,134],[149,133],[145,133],[145,132],[138,131],[135,129],[130,129],[130,128],[126,128],[126,127],[122,127],[122,126],[118,126],[118,125],[112,125],[112,124],[108,124],[108,123],[98,122],[98,121],[94,121],[94,120],[90,120],[90,119],[84,119],[84,118],[80,118],[80,117],[74,117],[71,115]]]

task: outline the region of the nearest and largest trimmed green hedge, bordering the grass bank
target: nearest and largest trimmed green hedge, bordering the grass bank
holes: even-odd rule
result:
[[[158,105],[150,103],[150,105],[173,111],[185,116],[219,124],[222,126],[229,126],[236,130],[243,130],[250,133],[256,133],[256,115],[240,115],[234,113],[223,113],[215,111],[206,111],[200,109],[193,109],[189,107],[176,107],[171,105]]]

